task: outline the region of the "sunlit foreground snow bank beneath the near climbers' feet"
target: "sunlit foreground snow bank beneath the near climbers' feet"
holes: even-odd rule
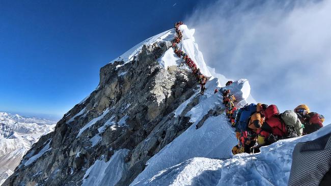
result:
[[[260,153],[237,154],[227,160],[188,159],[134,185],[287,185],[295,144],[330,132],[331,126],[327,125],[310,135],[261,147]]]

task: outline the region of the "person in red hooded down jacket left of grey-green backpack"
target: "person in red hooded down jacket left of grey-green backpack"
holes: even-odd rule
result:
[[[286,125],[280,117],[277,106],[270,105],[264,110],[264,122],[257,130],[259,146],[269,145],[287,135]]]

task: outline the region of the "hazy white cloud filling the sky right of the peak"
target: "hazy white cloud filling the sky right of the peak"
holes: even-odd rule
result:
[[[331,122],[331,1],[218,1],[186,23],[208,65],[249,79],[257,101]]]

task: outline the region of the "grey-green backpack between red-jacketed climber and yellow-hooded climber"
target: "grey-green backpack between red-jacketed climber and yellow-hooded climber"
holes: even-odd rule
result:
[[[286,126],[294,128],[294,132],[298,136],[302,135],[301,121],[295,112],[291,110],[286,110],[284,113],[281,114],[281,118]]]

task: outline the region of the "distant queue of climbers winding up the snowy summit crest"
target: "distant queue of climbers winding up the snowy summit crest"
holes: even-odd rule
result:
[[[191,58],[189,58],[189,56],[184,51],[179,49],[179,47],[178,47],[178,43],[183,38],[182,32],[179,29],[179,26],[182,24],[183,24],[183,22],[181,22],[181,21],[175,23],[175,29],[176,29],[177,36],[172,41],[172,47],[173,47],[176,55],[178,57],[182,57],[182,59],[184,59],[186,65],[192,70],[192,74],[196,77],[198,83],[200,84],[201,94],[203,95],[204,91],[206,90],[205,84],[207,82],[207,77],[201,73],[200,69],[197,67],[197,65],[194,63],[194,61]]]

